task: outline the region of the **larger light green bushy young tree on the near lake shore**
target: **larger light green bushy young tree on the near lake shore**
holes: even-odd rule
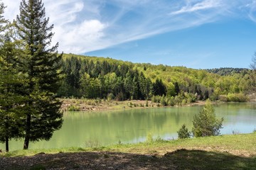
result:
[[[223,128],[223,118],[216,119],[214,108],[210,101],[206,101],[200,113],[193,117],[193,136],[206,137],[220,135],[220,129]]]

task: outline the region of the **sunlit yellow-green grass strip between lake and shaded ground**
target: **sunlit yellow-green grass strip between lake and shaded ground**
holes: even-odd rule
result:
[[[57,154],[65,152],[123,152],[131,154],[164,155],[177,149],[197,149],[209,152],[225,152],[242,157],[256,157],[256,132],[217,137],[198,137],[184,140],[154,140],[137,144],[119,144],[107,147],[68,147],[60,149],[28,149],[1,153],[0,157],[32,156],[39,153]]]

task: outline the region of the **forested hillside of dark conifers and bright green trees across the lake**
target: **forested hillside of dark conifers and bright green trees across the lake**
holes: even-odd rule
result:
[[[159,102],[164,98],[162,104],[172,105],[206,98],[215,100],[220,95],[239,94],[241,97],[251,88],[250,70],[246,69],[220,76],[201,69],[134,64],[71,54],[63,55],[62,65],[63,81],[58,96],[68,98],[152,99]]]

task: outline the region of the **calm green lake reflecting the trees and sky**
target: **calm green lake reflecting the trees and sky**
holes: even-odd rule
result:
[[[63,127],[50,141],[30,142],[29,149],[112,145],[144,142],[147,135],[164,140],[177,138],[185,123],[192,128],[193,115],[203,106],[127,109],[122,111],[66,112]],[[221,134],[250,133],[256,129],[256,103],[224,103],[214,106],[224,118]],[[0,148],[4,150],[4,144]],[[23,141],[11,141],[9,149],[22,149]]]

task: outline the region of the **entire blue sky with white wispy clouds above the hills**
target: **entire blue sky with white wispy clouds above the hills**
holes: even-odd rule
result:
[[[18,0],[2,0],[16,18]],[[65,53],[195,69],[247,68],[255,0],[44,0]]]

